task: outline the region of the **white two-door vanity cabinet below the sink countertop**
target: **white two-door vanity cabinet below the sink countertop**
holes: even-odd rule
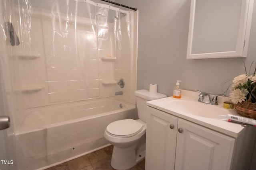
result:
[[[249,169],[253,143],[248,150],[242,141],[250,133],[236,139],[150,106],[147,112],[146,170]]]

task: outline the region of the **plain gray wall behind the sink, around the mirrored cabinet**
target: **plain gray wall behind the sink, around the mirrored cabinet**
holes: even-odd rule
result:
[[[139,10],[137,89],[149,89],[155,83],[158,92],[172,96],[176,80],[182,80],[183,89],[220,94],[235,76],[245,73],[242,61],[248,70],[256,61],[256,2],[247,58],[198,60],[186,59],[190,0],[115,2]]]

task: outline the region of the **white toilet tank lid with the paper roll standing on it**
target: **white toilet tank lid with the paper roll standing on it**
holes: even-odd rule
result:
[[[135,96],[146,99],[146,100],[156,100],[156,99],[161,99],[161,98],[166,98],[167,96],[165,94],[161,93],[152,93],[149,92],[149,90],[137,90],[135,92]]]

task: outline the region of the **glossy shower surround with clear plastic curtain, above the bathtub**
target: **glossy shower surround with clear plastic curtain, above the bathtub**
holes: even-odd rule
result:
[[[11,117],[10,152],[26,109],[117,91],[135,104],[137,17],[91,0],[0,0],[0,83]]]

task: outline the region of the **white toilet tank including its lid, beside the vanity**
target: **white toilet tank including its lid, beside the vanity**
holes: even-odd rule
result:
[[[146,113],[146,102],[150,100],[156,100],[161,98],[166,98],[167,96],[165,94],[161,93],[152,93],[149,92],[149,90],[137,90],[135,92],[136,96],[136,104],[138,109],[138,117],[140,120],[146,122],[147,119],[147,113]]]

